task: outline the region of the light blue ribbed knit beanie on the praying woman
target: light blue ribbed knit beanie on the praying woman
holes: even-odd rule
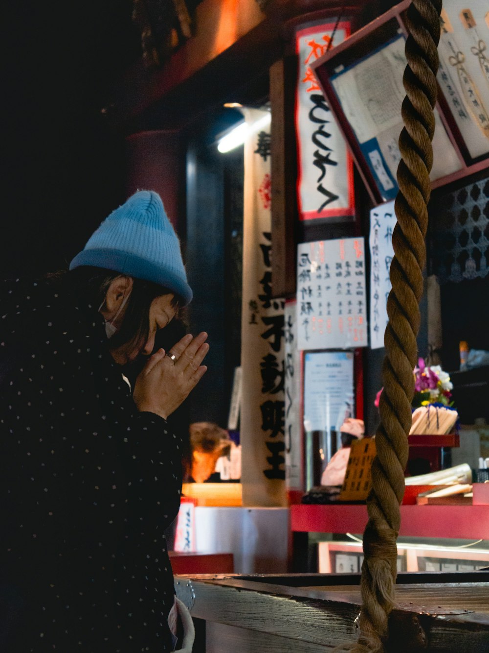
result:
[[[184,304],[192,299],[177,234],[155,191],[134,193],[106,217],[74,257],[70,270],[82,265],[154,281],[179,295]]]

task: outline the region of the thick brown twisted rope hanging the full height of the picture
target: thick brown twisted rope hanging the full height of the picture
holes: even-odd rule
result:
[[[406,98],[402,104],[404,129],[399,138],[402,160],[397,170],[399,192],[393,232],[392,290],[387,300],[389,323],[385,330],[380,425],[377,456],[372,464],[372,492],[367,500],[368,524],[363,537],[364,563],[356,653],[389,648],[389,613],[394,607],[396,540],[404,495],[404,468],[408,462],[408,433],[414,394],[413,369],[417,360],[419,300],[426,260],[424,238],[428,227],[432,138],[435,129],[439,14],[441,0],[413,0],[406,40],[408,65],[404,72]]]

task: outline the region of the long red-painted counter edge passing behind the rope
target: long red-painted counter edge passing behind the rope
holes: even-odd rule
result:
[[[400,535],[489,539],[489,505],[401,505]],[[292,532],[363,533],[366,505],[291,505]]]

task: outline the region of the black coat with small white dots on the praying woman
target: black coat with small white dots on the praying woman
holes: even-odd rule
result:
[[[0,289],[0,650],[172,650],[181,443],[64,288]]]

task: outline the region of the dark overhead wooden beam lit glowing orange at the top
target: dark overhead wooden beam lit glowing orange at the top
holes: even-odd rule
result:
[[[203,0],[196,10],[196,35],[159,69],[145,67],[142,59],[128,69],[111,89],[104,114],[113,127],[134,129],[132,121],[158,106],[158,127],[179,128],[225,95],[232,101],[235,89],[280,59],[297,22],[338,13],[365,14],[364,22],[375,6],[369,3],[366,10],[363,0],[347,5],[338,0],[269,0],[265,13],[256,0]]]

